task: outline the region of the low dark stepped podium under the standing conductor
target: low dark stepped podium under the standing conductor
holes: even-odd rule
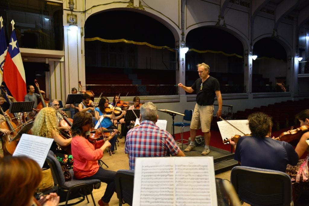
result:
[[[187,145],[184,145],[184,149]],[[234,153],[228,152],[224,149],[219,149],[216,147],[209,146],[210,153],[205,157],[214,157],[214,171],[215,174],[220,174],[222,172],[231,170],[233,167],[238,165],[238,162],[234,160]],[[188,157],[201,157],[201,153],[204,150],[204,146],[196,147],[190,152],[184,152]]]

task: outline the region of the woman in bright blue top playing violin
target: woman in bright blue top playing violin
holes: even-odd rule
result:
[[[114,114],[107,113],[105,111],[105,108],[108,107],[108,98],[107,97],[102,97],[99,101],[98,106],[95,108],[95,118],[96,122],[95,124],[98,123],[98,120],[103,116],[103,120],[100,123],[101,127],[104,127],[106,129],[117,129],[114,124],[117,123],[117,120],[119,120],[121,117],[125,115],[125,111],[121,111],[121,115],[115,116]],[[115,153],[115,143],[117,140],[118,134],[116,134],[111,140],[111,152],[112,154]]]

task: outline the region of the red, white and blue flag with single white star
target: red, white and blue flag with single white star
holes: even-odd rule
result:
[[[19,52],[17,38],[14,29],[14,20],[11,21],[13,31],[3,69],[3,81],[17,102],[23,102],[27,94],[26,76],[23,61]]]

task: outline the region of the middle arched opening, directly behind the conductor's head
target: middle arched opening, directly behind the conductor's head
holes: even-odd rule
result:
[[[222,93],[243,93],[243,44],[229,32],[215,27],[199,27],[186,37],[186,85],[198,78],[196,65],[210,66],[210,75],[220,82]]]

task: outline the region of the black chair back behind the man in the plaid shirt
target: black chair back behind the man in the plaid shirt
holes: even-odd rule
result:
[[[115,175],[115,185],[117,198],[119,199],[119,206],[125,203],[132,205],[134,171],[118,170]]]

